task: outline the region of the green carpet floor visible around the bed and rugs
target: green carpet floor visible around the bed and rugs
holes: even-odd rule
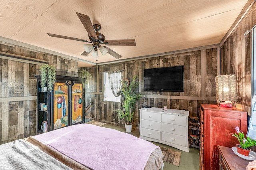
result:
[[[114,128],[121,132],[125,132],[124,127],[110,125],[107,123],[105,125],[102,125],[102,127]],[[132,134],[136,137],[140,136],[139,130],[132,130],[132,132],[130,134]],[[163,147],[170,148],[173,150],[178,150],[176,148],[173,148],[173,147],[165,145],[165,144],[161,144],[161,143],[157,143],[157,142],[152,142],[152,143],[154,143],[157,146],[163,146]],[[189,153],[184,152],[182,150],[178,150],[178,151],[181,152],[180,165],[175,166],[175,165],[169,164],[167,162],[164,162],[164,170],[198,170],[199,169],[199,149],[198,148],[191,147],[189,149]]]

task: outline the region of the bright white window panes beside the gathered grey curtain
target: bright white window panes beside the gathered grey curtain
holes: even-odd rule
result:
[[[119,97],[115,97],[114,94],[112,93],[109,79],[108,79],[108,73],[103,73],[103,74],[104,74],[104,101],[120,102],[121,95]],[[121,77],[121,72],[117,74]],[[121,78],[119,80],[121,80]]]

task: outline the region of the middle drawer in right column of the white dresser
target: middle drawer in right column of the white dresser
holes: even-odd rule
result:
[[[186,136],[186,127],[183,126],[162,123],[162,131],[172,134],[178,134],[181,136]]]

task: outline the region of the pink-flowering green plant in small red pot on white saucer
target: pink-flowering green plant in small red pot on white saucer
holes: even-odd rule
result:
[[[239,144],[236,144],[237,152],[243,154],[244,156],[249,156],[250,153],[250,146],[256,146],[256,141],[252,140],[249,137],[244,136],[244,132],[239,130],[239,127],[234,128],[236,133],[232,136],[235,136],[238,139]]]

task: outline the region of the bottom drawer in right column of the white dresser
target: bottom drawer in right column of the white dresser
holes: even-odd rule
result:
[[[187,136],[179,136],[176,134],[162,132],[162,140],[174,144],[178,144],[181,146],[186,146]]]

